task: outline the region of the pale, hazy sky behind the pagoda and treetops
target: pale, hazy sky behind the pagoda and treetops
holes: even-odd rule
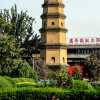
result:
[[[100,37],[100,0],[64,0],[64,3],[68,37]],[[0,0],[0,9],[10,9],[14,4],[19,11],[27,10],[35,18],[34,31],[39,33],[43,0]]]

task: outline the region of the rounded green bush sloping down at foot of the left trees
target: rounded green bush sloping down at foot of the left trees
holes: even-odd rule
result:
[[[15,61],[15,66],[17,66],[16,70],[13,71],[12,77],[25,77],[25,78],[33,78],[38,80],[38,75],[36,71],[32,69],[32,67],[23,60]]]

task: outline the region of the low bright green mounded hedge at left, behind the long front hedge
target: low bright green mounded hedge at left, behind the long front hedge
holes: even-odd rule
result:
[[[0,76],[0,89],[13,87],[37,87],[37,85],[37,82],[31,78]]]

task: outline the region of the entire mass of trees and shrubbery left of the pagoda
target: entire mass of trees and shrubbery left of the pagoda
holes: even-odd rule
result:
[[[32,57],[40,41],[33,32],[33,21],[27,12],[18,13],[16,5],[0,11],[0,75],[34,77],[35,71],[23,59],[27,53]]]

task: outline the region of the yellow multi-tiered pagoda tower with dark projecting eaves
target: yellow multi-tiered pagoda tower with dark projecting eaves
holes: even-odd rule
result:
[[[49,69],[56,71],[67,64],[66,32],[63,0],[44,0],[42,48],[40,55]]]

